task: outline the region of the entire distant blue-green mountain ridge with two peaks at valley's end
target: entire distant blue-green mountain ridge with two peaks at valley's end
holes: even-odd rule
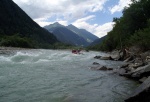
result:
[[[72,44],[75,46],[88,46],[94,40],[98,39],[92,33],[78,29],[73,25],[63,26],[58,22],[44,27],[49,32],[53,33],[57,39],[63,43]]]

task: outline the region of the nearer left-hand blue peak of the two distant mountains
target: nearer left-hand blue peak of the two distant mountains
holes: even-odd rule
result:
[[[89,44],[84,38],[78,36],[76,33],[57,22],[45,26],[44,28],[53,33],[57,39],[63,43],[75,46],[87,46]]]

